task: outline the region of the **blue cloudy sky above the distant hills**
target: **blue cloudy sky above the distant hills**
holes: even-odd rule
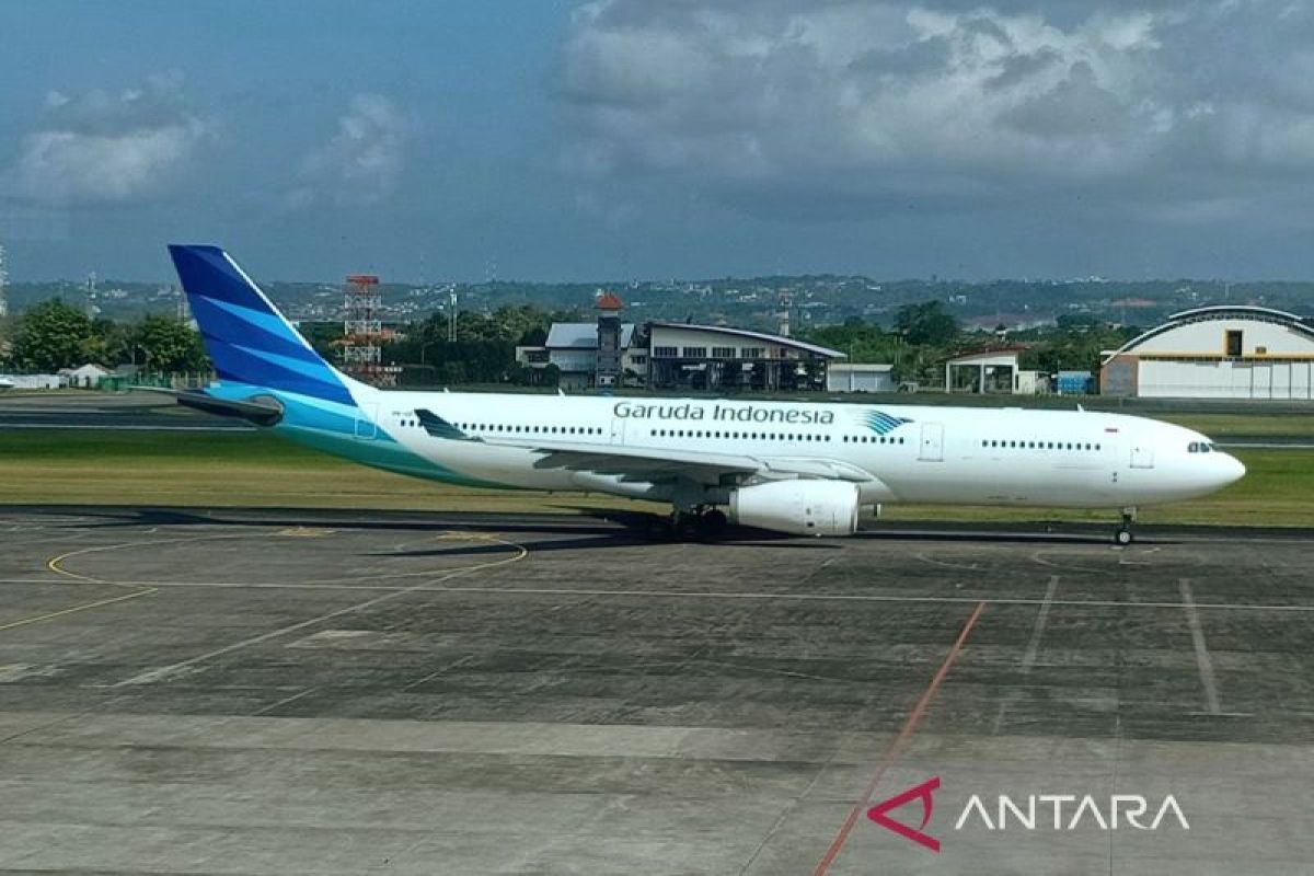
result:
[[[13,280],[1314,278],[1314,4],[0,4]]]

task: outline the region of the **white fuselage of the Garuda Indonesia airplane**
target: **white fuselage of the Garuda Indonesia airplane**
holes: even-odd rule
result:
[[[536,468],[553,445],[838,462],[863,504],[1126,508],[1205,495],[1244,466],[1190,429],[1120,414],[894,405],[373,393],[357,398],[406,449],[473,481],[671,500],[671,485]],[[430,435],[428,410],[470,439]],[[532,444],[509,447],[498,441]],[[712,499],[715,502],[715,498]]]

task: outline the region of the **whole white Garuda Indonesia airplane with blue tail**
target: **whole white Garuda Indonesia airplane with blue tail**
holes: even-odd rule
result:
[[[1206,436],[1121,414],[380,390],[323,360],[227,252],[170,246],[218,380],[179,403],[388,471],[669,503],[685,538],[729,523],[849,536],[894,503],[1121,512],[1246,473]]]

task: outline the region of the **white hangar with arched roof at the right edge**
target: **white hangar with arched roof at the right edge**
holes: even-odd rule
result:
[[[1139,398],[1314,399],[1314,324],[1255,306],[1212,306],[1108,352],[1100,391]]]

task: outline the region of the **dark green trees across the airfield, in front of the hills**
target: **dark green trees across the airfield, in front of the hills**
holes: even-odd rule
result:
[[[402,327],[384,344],[382,360],[403,366],[411,385],[547,383],[556,368],[532,369],[515,361],[518,345],[545,343],[555,322],[589,322],[582,310],[545,310],[533,305],[505,305],[490,311],[457,315],[457,340],[448,340],[447,314],[435,313]],[[7,366],[54,372],[96,362],[109,368],[134,364],[148,373],[196,373],[209,364],[200,334],[166,315],[135,322],[88,317],[62,299],[43,301],[11,320]],[[300,326],[306,340],[330,361],[340,360],[340,322]],[[1043,372],[1096,370],[1105,349],[1121,347],[1139,330],[1114,327],[1089,317],[1059,317],[1055,326],[1008,332],[1025,343],[1021,366]],[[895,378],[936,382],[945,359],[996,341],[989,332],[967,332],[942,301],[900,307],[891,326],[850,317],[842,324],[815,326],[802,340],[838,349],[850,362],[895,365]],[[3,349],[3,348],[0,348]]]

